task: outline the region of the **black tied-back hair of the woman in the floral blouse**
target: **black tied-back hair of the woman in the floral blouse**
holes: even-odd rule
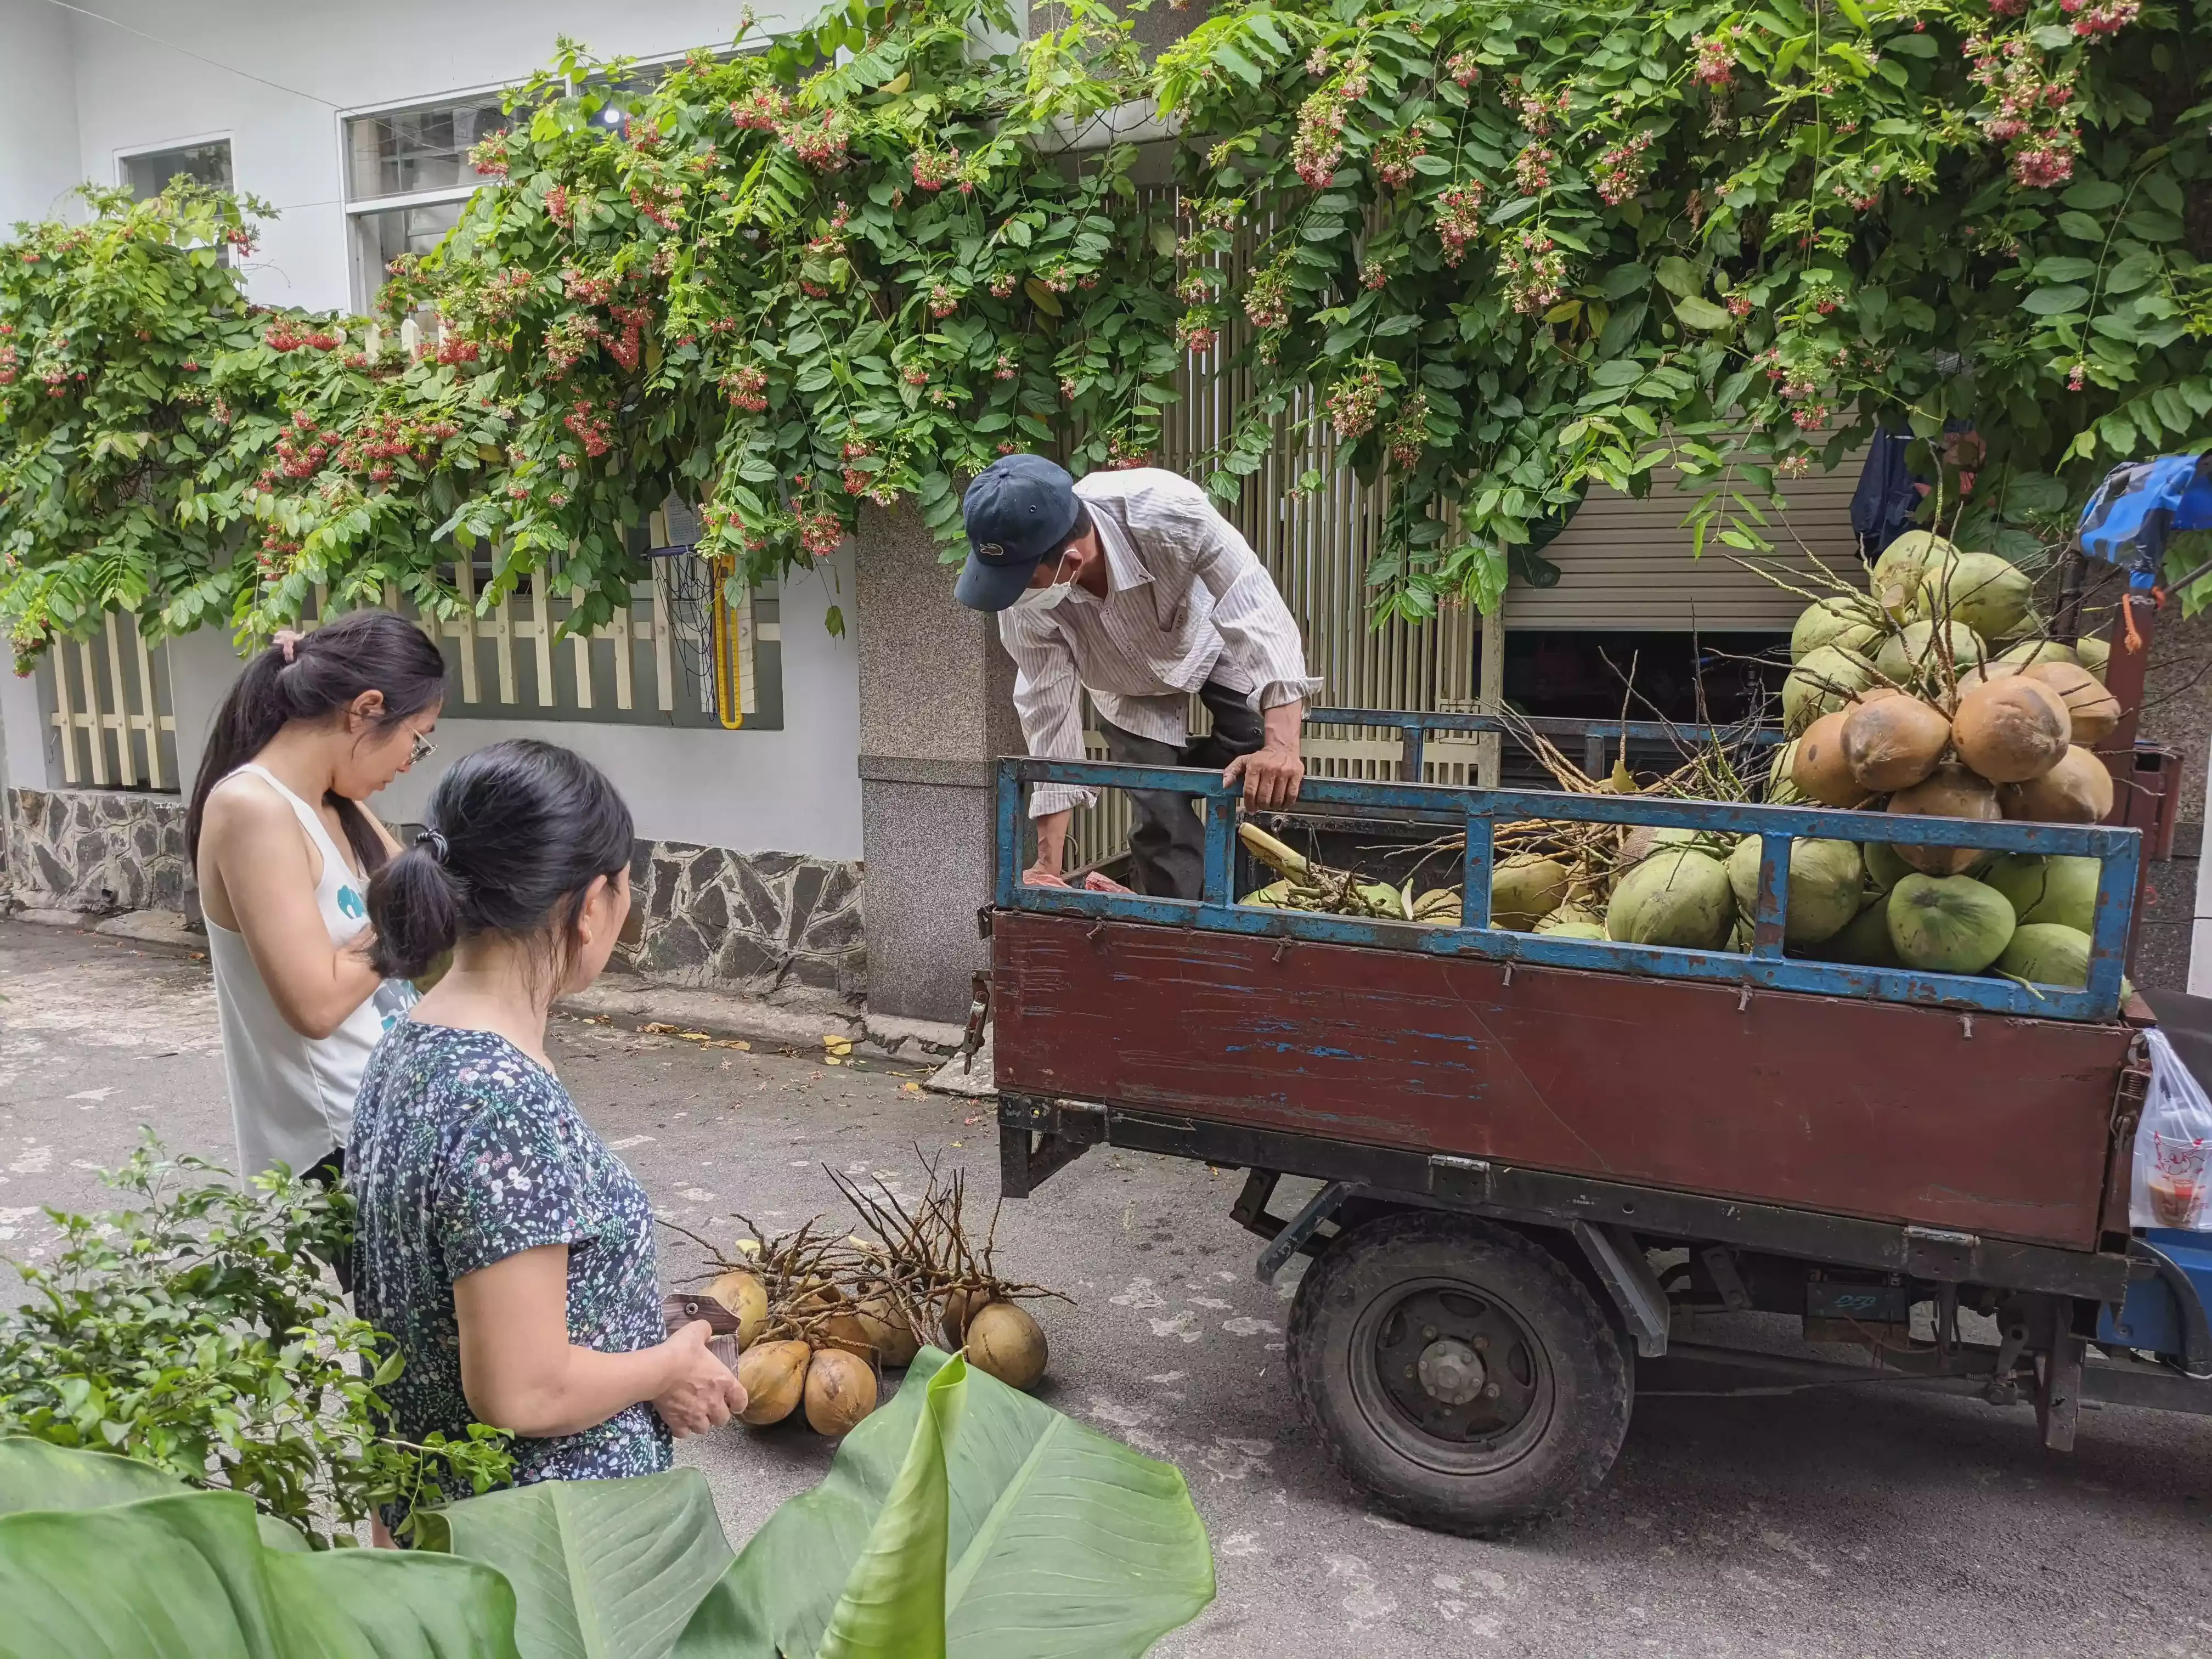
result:
[[[438,779],[422,834],[369,878],[369,960],[414,980],[480,933],[562,960],[593,880],[628,867],[630,807],[599,768],[557,743],[491,743]]]

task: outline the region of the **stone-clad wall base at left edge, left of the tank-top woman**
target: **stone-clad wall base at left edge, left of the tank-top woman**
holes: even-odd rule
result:
[[[184,801],[133,790],[13,790],[7,878],[22,905],[106,916],[188,909]]]

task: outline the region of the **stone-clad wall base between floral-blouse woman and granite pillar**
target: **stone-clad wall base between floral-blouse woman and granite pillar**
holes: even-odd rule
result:
[[[641,841],[630,863],[633,962],[668,984],[770,995],[867,987],[860,865]]]

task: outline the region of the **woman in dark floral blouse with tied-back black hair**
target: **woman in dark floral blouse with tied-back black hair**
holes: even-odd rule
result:
[[[599,978],[628,914],[630,810],[551,743],[453,765],[369,880],[376,971],[453,962],[361,1079],[354,1307],[405,1358],[380,1389],[394,1431],[507,1429],[518,1482],[653,1473],[670,1433],[745,1407],[703,1321],[666,1334],[653,1208],[546,1055],[546,1011]]]

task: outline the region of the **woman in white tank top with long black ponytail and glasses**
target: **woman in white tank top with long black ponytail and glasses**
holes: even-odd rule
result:
[[[438,646],[361,611],[276,635],[215,719],[184,834],[241,1175],[343,1168],[369,1051],[414,1000],[367,953],[363,896],[398,843],[361,803],[429,754],[442,703]]]

